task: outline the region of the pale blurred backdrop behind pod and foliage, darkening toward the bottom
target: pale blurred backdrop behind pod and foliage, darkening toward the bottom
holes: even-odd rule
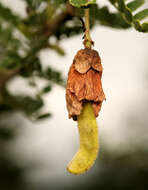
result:
[[[25,17],[24,1],[0,2]],[[100,153],[95,165],[80,176],[66,171],[79,136],[76,122],[68,119],[65,89],[55,85],[44,95],[43,110],[52,113],[49,119],[32,122],[20,112],[1,116],[1,126],[7,126],[1,130],[8,138],[0,139],[1,190],[148,189],[148,35],[96,26],[91,36],[102,58],[106,94],[97,119]],[[44,50],[40,59],[66,77],[74,55],[83,48],[82,34],[60,45],[64,57]],[[21,77],[8,87],[14,94],[35,93]]]

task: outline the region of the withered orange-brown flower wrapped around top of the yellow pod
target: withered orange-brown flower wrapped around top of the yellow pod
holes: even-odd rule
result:
[[[66,88],[69,118],[77,120],[86,101],[92,102],[95,116],[98,116],[105,99],[101,83],[102,70],[97,51],[85,48],[77,52],[69,70]]]

